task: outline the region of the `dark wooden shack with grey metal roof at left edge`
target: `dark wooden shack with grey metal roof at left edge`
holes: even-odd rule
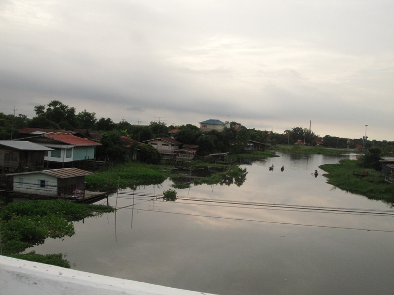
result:
[[[52,150],[29,141],[2,140],[0,141],[1,174],[41,170],[44,167],[45,153]]]

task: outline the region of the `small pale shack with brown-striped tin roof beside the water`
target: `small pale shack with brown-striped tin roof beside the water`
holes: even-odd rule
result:
[[[7,174],[13,185],[12,192],[57,198],[85,190],[85,176],[93,174],[77,168]]]

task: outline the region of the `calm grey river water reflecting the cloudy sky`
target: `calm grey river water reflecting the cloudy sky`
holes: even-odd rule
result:
[[[109,198],[116,213],[33,250],[66,253],[81,271],[218,295],[393,294],[393,208],[327,184],[318,167],[342,157],[242,165],[243,185],[176,189],[174,203],[155,198],[169,179],[124,190]]]

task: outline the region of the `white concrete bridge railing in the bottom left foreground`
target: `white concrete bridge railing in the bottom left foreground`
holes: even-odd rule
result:
[[[1,295],[208,295],[0,256]]]

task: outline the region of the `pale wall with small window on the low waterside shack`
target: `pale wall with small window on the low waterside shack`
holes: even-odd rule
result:
[[[13,192],[56,197],[58,179],[43,173],[30,173],[13,176]]]

